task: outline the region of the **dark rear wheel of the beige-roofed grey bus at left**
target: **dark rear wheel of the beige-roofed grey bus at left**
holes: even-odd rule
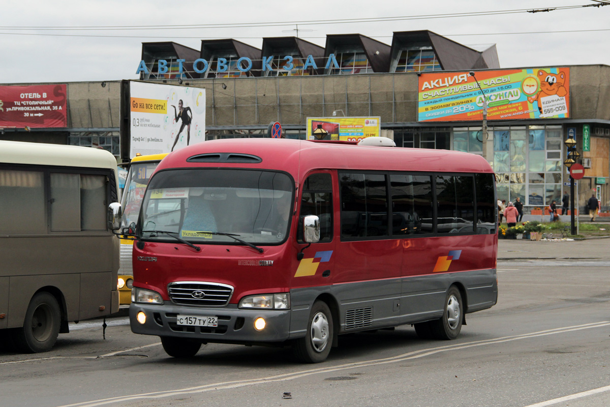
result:
[[[23,327],[15,330],[15,344],[25,353],[51,350],[59,335],[62,314],[55,297],[39,292],[27,306]]]

